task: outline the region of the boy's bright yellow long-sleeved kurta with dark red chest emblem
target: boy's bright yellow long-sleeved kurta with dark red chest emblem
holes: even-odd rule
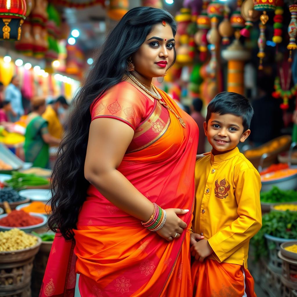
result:
[[[262,222],[260,175],[236,147],[225,154],[210,154],[199,159],[195,167],[195,183],[196,200],[192,229],[194,233],[205,236],[214,250],[204,262],[212,259],[217,264],[224,263],[215,266],[222,265],[225,270],[225,263],[240,265],[234,266],[233,270],[243,266],[244,270],[240,268],[240,272],[237,272],[242,274],[243,280],[242,271],[249,274],[249,240],[261,228]],[[202,265],[197,262],[195,261],[193,266]],[[212,266],[213,269],[213,264],[208,266]],[[200,270],[205,269],[204,267]],[[192,274],[198,270],[195,267]],[[193,283],[195,277],[199,276],[193,275]],[[244,282],[242,284],[244,285]],[[196,293],[196,296],[199,295]]]

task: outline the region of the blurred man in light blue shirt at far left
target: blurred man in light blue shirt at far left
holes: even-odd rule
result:
[[[9,114],[10,121],[18,121],[20,116],[24,114],[22,94],[20,91],[20,80],[18,76],[15,75],[12,77],[10,84],[5,89],[4,100],[10,101],[11,103],[11,112]]]

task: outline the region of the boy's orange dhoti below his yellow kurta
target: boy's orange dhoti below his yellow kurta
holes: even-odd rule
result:
[[[206,259],[192,264],[194,297],[257,297],[254,279],[241,265]]]

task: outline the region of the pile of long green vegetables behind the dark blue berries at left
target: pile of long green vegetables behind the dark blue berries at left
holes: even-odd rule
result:
[[[49,181],[43,177],[35,174],[20,173],[18,171],[12,172],[12,178],[5,181],[13,189],[22,189],[28,186],[43,186],[48,185]]]

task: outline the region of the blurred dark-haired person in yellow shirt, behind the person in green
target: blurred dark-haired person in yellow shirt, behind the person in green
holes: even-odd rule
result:
[[[63,138],[63,125],[60,122],[59,114],[68,108],[68,103],[63,96],[58,97],[53,103],[46,107],[42,114],[43,119],[48,121],[48,132],[55,138]]]

